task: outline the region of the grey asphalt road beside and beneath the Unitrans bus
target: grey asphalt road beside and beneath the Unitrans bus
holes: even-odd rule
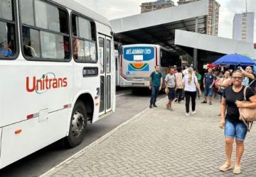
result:
[[[159,99],[164,98],[164,96],[164,94],[160,94]],[[55,142],[1,169],[0,176],[40,176],[60,164],[60,162],[79,152],[80,149],[95,142],[95,140],[107,132],[110,132],[115,127],[148,108],[149,97],[149,91],[147,90],[139,90],[132,93],[131,89],[117,89],[116,111],[92,125],[87,125],[85,139],[78,147],[66,149],[63,147],[63,141]]]

